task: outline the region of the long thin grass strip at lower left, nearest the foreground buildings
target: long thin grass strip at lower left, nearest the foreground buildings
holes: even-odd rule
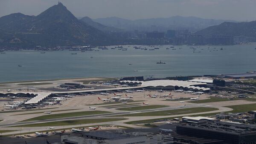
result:
[[[108,121],[122,121],[125,119],[79,119],[79,120],[69,120],[69,121],[54,121],[54,122],[44,122],[38,124],[23,124],[11,127],[52,127],[52,126],[63,126],[63,125],[75,125],[75,124],[93,124]]]

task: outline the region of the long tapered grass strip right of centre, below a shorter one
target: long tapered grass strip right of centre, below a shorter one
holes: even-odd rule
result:
[[[212,107],[193,107],[193,108],[184,108],[177,110],[162,110],[162,111],[154,111],[154,112],[146,112],[146,113],[131,113],[125,115],[117,115],[117,116],[169,116],[169,115],[180,115],[187,113],[201,113],[207,111],[218,110],[217,108]]]

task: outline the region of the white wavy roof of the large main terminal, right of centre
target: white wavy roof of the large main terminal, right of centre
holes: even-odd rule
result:
[[[198,85],[207,85],[204,82],[189,82],[189,81],[179,81],[179,80],[152,80],[152,81],[120,81],[121,83],[134,83],[141,84],[143,87],[180,87],[180,88],[191,88],[198,90],[210,90],[210,88],[200,87]]]

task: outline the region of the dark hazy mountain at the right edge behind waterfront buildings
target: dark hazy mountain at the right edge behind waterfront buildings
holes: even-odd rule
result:
[[[220,25],[210,26],[196,33],[202,34],[204,36],[231,35],[243,37],[256,37],[256,21],[242,23],[224,22]]]

